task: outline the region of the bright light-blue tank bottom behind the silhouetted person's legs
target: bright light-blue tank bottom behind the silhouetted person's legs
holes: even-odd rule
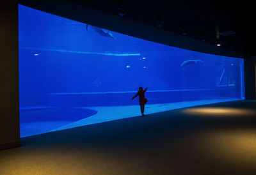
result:
[[[145,114],[154,114],[157,112],[163,112],[166,110],[179,109],[183,107],[193,107],[196,105],[205,105],[220,102],[230,102],[240,100],[236,98],[214,99],[214,100],[197,100],[190,102],[177,102],[177,103],[163,103],[163,104],[151,104],[145,106]],[[83,107],[77,107],[78,109]],[[53,131],[65,130],[68,128],[74,128],[78,126],[91,125],[94,123],[102,123],[106,121],[112,121],[115,119],[132,118],[134,116],[140,116],[140,105],[129,106],[114,106],[114,107],[84,107],[84,109],[97,110],[98,113],[90,118],[81,119],[79,121],[68,123],[68,125],[60,126]]]

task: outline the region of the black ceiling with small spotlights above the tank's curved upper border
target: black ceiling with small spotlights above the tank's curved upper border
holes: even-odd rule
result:
[[[250,1],[136,1],[70,0],[88,8],[216,44],[248,56],[256,56],[254,11]],[[159,22],[157,22],[159,20]],[[224,36],[222,33],[234,31]]]

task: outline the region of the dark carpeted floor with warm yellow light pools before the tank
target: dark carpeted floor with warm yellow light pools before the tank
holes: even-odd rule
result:
[[[256,174],[255,114],[225,102],[26,137],[0,174]]]

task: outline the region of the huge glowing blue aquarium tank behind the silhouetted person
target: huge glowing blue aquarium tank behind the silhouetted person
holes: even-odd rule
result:
[[[244,99],[243,59],[170,47],[19,5],[20,137]],[[148,116],[149,117],[149,116]],[[171,117],[171,116],[170,116]]]

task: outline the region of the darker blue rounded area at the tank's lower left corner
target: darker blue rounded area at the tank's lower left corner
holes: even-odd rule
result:
[[[94,114],[96,110],[72,107],[20,107],[20,137],[46,133]]]

